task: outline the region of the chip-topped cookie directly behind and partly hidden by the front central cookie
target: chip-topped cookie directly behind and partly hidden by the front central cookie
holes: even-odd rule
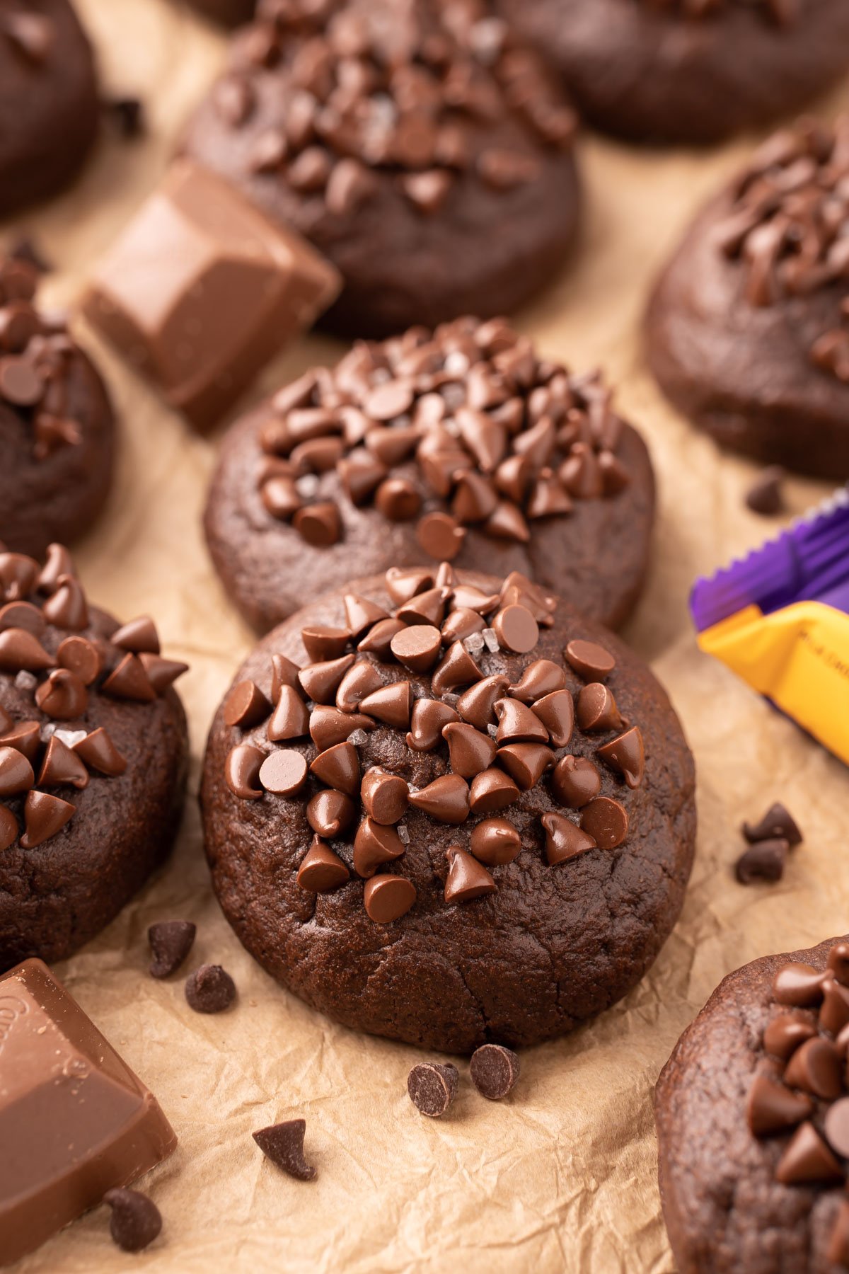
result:
[[[235,424],[205,526],[261,632],[354,573],[443,558],[526,572],[619,627],[653,515],[648,452],[601,380],[463,318],[359,343]]]

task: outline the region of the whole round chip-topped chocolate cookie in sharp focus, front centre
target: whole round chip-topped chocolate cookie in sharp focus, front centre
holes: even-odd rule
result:
[[[695,837],[648,668],[523,576],[448,563],[351,582],[260,642],[201,805],[256,959],[346,1026],[448,1052],[537,1043],[625,995]]]

